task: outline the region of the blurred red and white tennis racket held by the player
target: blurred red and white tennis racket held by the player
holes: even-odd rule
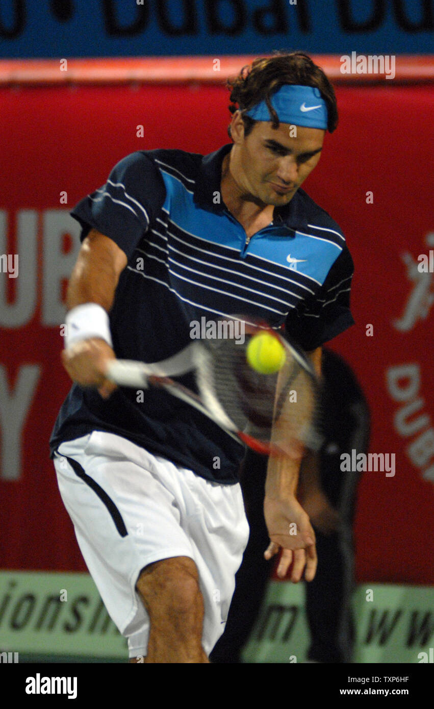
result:
[[[319,380],[310,360],[267,325],[235,320],[243,338],[194,340],[174,357],[152,364],[114,359],[106,376],[118,386],[165,389],[256,452],[301,457],[306,449],[318,450]],[[224,322],[226,333],[237,331]],[[275,374],[261,374],[247,362],[250,338],[264,332],[284,348],[284,364]],[[174,379],[189,373],[195,375],[196,391]]]

